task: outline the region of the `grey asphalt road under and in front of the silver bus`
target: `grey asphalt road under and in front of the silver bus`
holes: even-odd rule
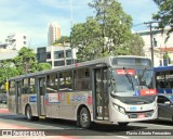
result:
[[[38,122],[29,122],[23,115],[15,115],[0,111],[0,129],[4,129],[3,125],[9,124],[10,129],[25,129],[45,131],[46,135],[52,136],[68,136],[72,138],[101,138],[101,139],[138,139],[138,138],[173,138],[173,123],[171,122],[142,122],[130,123],[125,128],[118,125],[101,125],[94,124],[91,129],[83,130],[76,126],[75,122],[63,119],[39,119]],[[2,128],[3,127],[3,128]],[[167,132],[165,132],[167,131]],[[171,132],[172,136],[154,134]],[[139,135],[141,134],[141,135]],[[151,134],[151,135],[150,135]]]

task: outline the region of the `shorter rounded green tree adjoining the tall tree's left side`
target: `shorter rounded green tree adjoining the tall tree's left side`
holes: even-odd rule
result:
[[[88,17],[86,23],[76,24],[71,35],[72,48],[78,48],[78,61],[88,61],[101,56],[102,28],[95,18]]]

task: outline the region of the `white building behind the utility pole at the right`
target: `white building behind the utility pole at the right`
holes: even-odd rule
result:
[[[165,42],[167,33],[169,28],[163,31],[160,29],[152,30],[152,46],[154,46],[154,66],[163,65],[163,54],[168,53],[171,58],[171,64],[173,64],[173,34],[170,34],[170,38]],[[151,59],[151,43],[150,43],[150,30],[144,30],[137,33],[144,40],[144,53],[145,56]]]

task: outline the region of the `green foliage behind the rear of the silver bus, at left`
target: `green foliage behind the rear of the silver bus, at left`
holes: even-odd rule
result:
[[[0,62],[0,87],[10,77],[50,68],[49,63],[38,64],[34,50],[24,47],[18,51],[16,58]]]

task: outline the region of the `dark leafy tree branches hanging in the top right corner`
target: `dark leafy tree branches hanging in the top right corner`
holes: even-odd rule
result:
[[[154,20],[159,21],[159,28],[170,26],[168,35],[173,31],[173,0],[154,0],[158,5],[158,13],[152,15]]]

